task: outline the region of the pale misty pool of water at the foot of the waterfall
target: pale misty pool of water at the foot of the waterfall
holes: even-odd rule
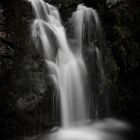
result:
[[[130,130],[131,126],[125,122],[106,119],[83,126],[60,128],[50,135],[44,135],[40,140],[126,140],[131,136]]]

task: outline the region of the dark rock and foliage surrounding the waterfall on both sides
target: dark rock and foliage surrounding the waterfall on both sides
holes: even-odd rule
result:
[[[52,0],[63,23],[79,3],[95,8],[103,27],[100,46],[105,71],[104,92],[98,98],[99,118],[114,117],[135,126],[140,121],[140,1]],[[34,49],[29,3],[0,1],[0,136],[39,134],[60,125],[59,97],[42,59]],[[92,73],[92,72],[91,72]]]

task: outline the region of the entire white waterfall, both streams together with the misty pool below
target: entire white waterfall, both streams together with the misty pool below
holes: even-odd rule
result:
[[[66,35],[57,8],[43,0],[30,2],[35,15],[31,27],[32,38],[60,95],[61,105],[61,128],[42,139],[108,140],[114,137],[119,139],[118,135],[105,132],[106,127],[118,131],[128,128],[128,125],[113,119],[92,123],[89,112],[91,110],[88,109],[86,101],[89,69],[83,55],[85,50],[96,55],[100,77],[99,90],[102,90],[104,81],[101,54],[97,47],[100,44],[98,32],[101,25],[96,10],[83,4],[78,5],[77,11],[70,19],[72,33]],[[67,36],[72,36],[74,45],[69,43],[70,39]]]

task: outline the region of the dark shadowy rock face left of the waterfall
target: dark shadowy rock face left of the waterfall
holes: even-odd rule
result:
[[[20,0],[0,4],[0,134],[4,139],[50,129],[56,124],[52,108],[56,110],[58,104],[30,38],[31,6]]]

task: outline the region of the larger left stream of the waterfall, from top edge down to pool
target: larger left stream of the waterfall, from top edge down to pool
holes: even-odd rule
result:
[[[31,0],[31,5],[36,17],[32,37],[60,94],[62,126],[86,121],[86,67],[82,54],[77,58],[71,51],[59,12],[54,6],[43,0]]]

